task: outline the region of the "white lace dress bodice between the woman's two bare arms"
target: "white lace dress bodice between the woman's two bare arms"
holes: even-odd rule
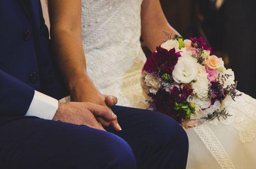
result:
[[[130,107],[144,100],[139,82],[146,58],[140,43],[141,3],[82,0],[82,39],[89,76],[102,93],[115,95],[118,104]]]

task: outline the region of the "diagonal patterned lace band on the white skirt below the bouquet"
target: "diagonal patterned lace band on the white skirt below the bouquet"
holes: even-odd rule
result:
[[[227,155],[221,142],[207,125],[200,125],[193,129],[205,143],[207,149],[214,156],[222,169],[235,169],[233,162]]]

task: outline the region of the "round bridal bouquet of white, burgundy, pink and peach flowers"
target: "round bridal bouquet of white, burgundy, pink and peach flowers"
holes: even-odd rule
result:
[[[141,85],[148,109],[165,113],[183,127],[198,121],[226,119],[225,107],[240,96],[234,72],[224,67],[200,38],[175,36],[157,47],[142,70]]]

